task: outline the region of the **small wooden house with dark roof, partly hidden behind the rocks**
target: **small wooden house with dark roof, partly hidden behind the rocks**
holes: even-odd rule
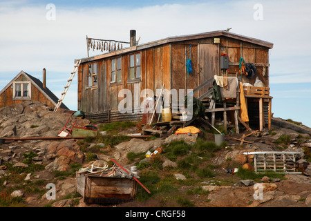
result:
[[[55,108],[58,98],[46,87],[46,70],[43,70],[43,82],[28,73],[21,72],[0,91],[0,108],[36,101]],[[61,108],[68,109],[65,104]]]

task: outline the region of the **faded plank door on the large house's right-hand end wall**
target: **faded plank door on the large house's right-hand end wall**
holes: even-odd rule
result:
[[[200,75],[198,85],[203,84],[208,79],[219,73],[219,46],[218,44],[198,45],[198,64]],[[213,86],[213,81],[199,90],[199,96],[207,92]]]

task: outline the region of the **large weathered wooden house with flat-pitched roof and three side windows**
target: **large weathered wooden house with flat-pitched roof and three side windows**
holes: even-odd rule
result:
[[[212,81],[204,87],[202,84],[214,75],[224,75],[224,71],[227,75],[241,77],[243,83],[254,84],[258,77],[269,87],[269,50],[273,48],[270,42],[226,30],[168,37],[138,45],[135,32],[130,38],[129,48],[77,59],[81,60],[78,110],[84,111],[86,117],[99,122],[141,119],[142,112],[121,114],[118,111],[118,104],[124,99],[118,96],[120,90],[129,89],[134,96],[135,88],[156,93],[164,84],[168,90],[200,88],[194,90],[194,97],[198,98],[212,86]],[[229,59],[226,70],[221,64],[222,55]],[[245,63],[256,66],[256,77],[249,79],[240,75],[241,57]],[[187,59],[191,59],[192,73],[187,72]],[[138,100],[142,102],[142,97]]]

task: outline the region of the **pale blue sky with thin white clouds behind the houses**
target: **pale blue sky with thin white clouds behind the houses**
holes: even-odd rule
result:
[[[55,20],[46,19],[48,3]],[[256,3],[263,19],[254,19]],[[232,28],[270,41],[270,88],[274,117],[311,126],[311,2],[272,1],[0,1],[0,90],[21,70],[41,79],[58,97],[75,59],[87,57],[86,35],[140,44],[158,39]],[[93,55],[93,54],[91,54]],[[95,54],[94,54],[95,55]],[[77,110],[77,78],[64,103]]]

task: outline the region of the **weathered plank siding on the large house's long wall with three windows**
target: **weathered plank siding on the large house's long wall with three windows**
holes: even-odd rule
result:
[[[164,87],[171,89],[171,46],[169,44],[140,50],[141,79],[129,81],[129,55],[109,57],[82,64],[78,73],[78,109],[98,121],[113,121],[135,119],[142,117],[142,113],[126,113],[121,115],[118,105],[124,99],[122,89],[132,93],[132,108],[141,104],[144,97],[140,93],[144,89],[156,90]],[[111,83],[111,60],[121,57],[121,82]],[[88,64],[97,63],[97,87],[88,88]],[[135,93],[137,90],[137,93]],[[119,97],[120,95],[120,97]],[[137,97],[135,97],[137,95]]]

